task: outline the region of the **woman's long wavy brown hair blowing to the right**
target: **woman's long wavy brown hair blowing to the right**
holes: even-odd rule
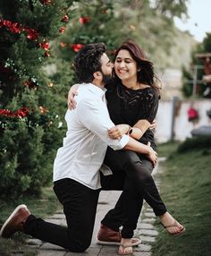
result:
[[[137,63],[137,70],[140,69],[140,71],[137,72],[137,81],[151,86],[156,90],[158,96],[160,97],[161,88],[157,83],[158,79],[154,72],[153,63],[147,60],[139,45],[131,40],[122,43],[122,46],[115,51],[114,58],[116,58],[120,50],[129,51],[132,58]],[[118,81],[116,74],[114,74],[114,78]]]

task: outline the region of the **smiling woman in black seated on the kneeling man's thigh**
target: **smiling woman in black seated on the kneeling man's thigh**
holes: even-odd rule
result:
[[[154,134],[148,129],[156,117],[160,98],[155,80],[153,64],[145,58],[136,43],[125,42],[116,50],[114,80],[107,84],[105,95],[110,117],[116,124],[108,131],[111,138],[120,138],[122,134],[127,133],[142,143],[150,142],[151,147],[156,149]],[[73,94],[76,88],[72,88]],[[69,93],[71,102],[72,90]],[[73,107],[74,103],[71,105]],[[185,228],[167,212],[151,176],[153,166],[148,158],[132,151],[114,151],[108,148],[105,165],[109,166],[113,173],[124,170],[132,184],[133,195],[125,189],[115,208],[102,220],[104,226],[113,230],[123,226],[119,254],[132,253],[131,237],[136,228],[143,199],[154,209],[170,235],[181,235],[185,231]],[[130,188],[130,185],[127,188]],[[122,218],[122,211],[125,215],[121,223],[116,219]]]

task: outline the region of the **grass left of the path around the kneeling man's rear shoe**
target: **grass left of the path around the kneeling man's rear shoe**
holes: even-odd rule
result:
[[[60,208],[59,202],[55,197],[55,193],[51,187],[43,189],[40,198],[22,197],[16,201],[2,201],[0,199],[0,224],[12,213],[13,209],[24,203],[30,209],[30,212],[40,218],[46,218],[55,213],[56,209]],[[21,234],[14,235],[13,239],[0,238],[0,255],[10,256],[13,253],[21,252],[24,256],[34,256],[37,254],[36,249],[29,249],[26,247],[25,240],[29,236]]]

